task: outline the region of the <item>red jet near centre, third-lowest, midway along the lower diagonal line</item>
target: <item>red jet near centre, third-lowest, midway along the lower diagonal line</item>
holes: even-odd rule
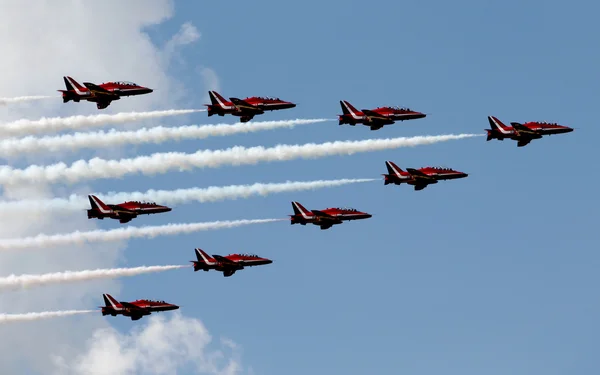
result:
[[[298,202],[292,202],[294,215],[290,215],[291,224],[314,224],[321,229],[329,229],[346,220],[368,219],[373,215],[358,211],[354,208],[326,208],[324,210],[307,210]]]

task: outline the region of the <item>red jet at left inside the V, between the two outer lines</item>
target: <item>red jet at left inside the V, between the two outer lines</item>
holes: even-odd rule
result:
[[[103,220],[105,217],[119,219],[121,224],[135,219],[138,215],[159,214],[169,212],[171,208],[161,206],[153,202],[123,202],[119,204],[105,204],[95,195],[88,195],[91,209],[88,211],[88,219],[98,218]]]

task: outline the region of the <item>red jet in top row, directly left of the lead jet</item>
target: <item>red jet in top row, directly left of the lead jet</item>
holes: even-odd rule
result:
[[[415,112],[409,108],[378,107],[359,111],[345,100],[341,100],[340,105],[344,114],[339,115],[339,125],[363,124],[370,126],[371,130],[381,129],[384,125],[390,125],[396,121],[413,120],[426,116],[424,113]]]

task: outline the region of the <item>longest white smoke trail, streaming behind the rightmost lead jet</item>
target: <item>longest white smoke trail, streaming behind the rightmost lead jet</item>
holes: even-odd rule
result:
[[[119,178],[132,173],[154,175],[166,173],[172,169],[183,171],[194,167],[217,168],[222,165],[245,165],[297,158],[314,159],[332,155],[352,155],[357,152],[414,147],[477,136],[480,136],[480,134],[336,141],[320,144],[278,145],[270,148],[236,146],[226,150],[200,150],[193,154],[168,152],[121,160],[93,158],[89,161],[78,160],[71,166],[67,166],[65,163],[57,163],[48,166],[31,165],[25,169],[14,169],[5,165],[0,167],[0,184],[22,182],[72,184],[89,179]]]

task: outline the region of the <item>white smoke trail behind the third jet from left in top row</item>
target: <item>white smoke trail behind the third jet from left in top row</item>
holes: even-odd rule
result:
[[[238,133],[251,133],[277,128],[293,128],[295,125],[314,124],[328,119],[296,119],[285,121],[262,121],[248,123],[188,125],[180,127],[157,126],[133,131],[98,131],[48,137],[10,138],[0,141],[0,156],[19,156],[23,153],[55,151],[76,151],[82,148],[114,147],[125,144],[162,143],[182,139],[203,139],[213,136],[227,136]]]

